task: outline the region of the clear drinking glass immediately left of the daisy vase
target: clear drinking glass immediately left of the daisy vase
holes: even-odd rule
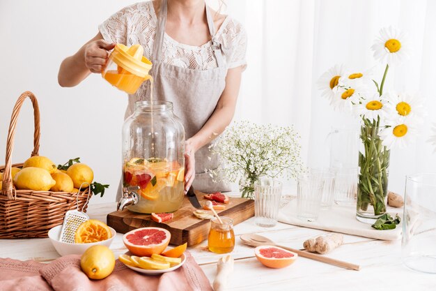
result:
[[[334,202],[339,205],[356,203],[359,167],[334,168]]]

